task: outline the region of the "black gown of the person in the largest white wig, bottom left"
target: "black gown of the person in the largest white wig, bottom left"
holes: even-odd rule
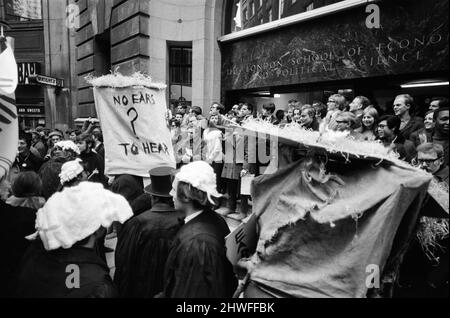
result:
[[[79,288],[71,285],[78,267]],[[71,247],[46,251],[36,240],[22,259],[14,297],[25,298],[113,298],[117,290],[109,268],[94,249]]]

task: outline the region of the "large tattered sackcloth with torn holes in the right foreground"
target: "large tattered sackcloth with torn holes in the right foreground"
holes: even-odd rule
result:
[[[366,297],[396,279],[431,175],[364,159],[330,161],[325,174],[315,158],[254,179],[249,278],[275,297]]]

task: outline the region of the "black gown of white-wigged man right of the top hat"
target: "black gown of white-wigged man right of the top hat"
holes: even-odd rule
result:
[[[205,210],[178,232],[167,259],[164,296],[231,298],[237,280],[226,257],[230,230],[220,215]]]

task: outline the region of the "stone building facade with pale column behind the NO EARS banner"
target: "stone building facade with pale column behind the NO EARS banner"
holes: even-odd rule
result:
[[[77,117],[95,116],[93,91],[84,78],[111,70],[125,75],[141,72],[166,83],[169,103],[186,100],[207,109],[220,98],[217,38],[222,35],[223,1],[79,0],[73,5],[79,12],[74,74]],[[180,76],[171,70],[171,54],[177,60],[178,52],[172,48],[189,59],[183,65],[173,64],[186,75],[181,76],[182,83],[174,81]]]

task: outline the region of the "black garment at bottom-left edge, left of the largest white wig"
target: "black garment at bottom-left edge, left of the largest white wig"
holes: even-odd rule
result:
[[[12,278],[30,245],[25,236],[35,232],[36,211],[13,207],[0,200],[0,298],[9,297]]]

